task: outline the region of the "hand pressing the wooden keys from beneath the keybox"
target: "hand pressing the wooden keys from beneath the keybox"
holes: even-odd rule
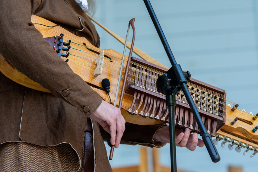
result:
[[[182,130],[175,130],[176,134],[176,146],[186,147],[187,149],[194,151],[197,146],[203,147],[204,142],[201,139],[198,139],[197,133],[190,133],[190,129],[185,129],[184,132]],[[166,142],[170,143],[169,140],[169,126],[164,126],[159,128],[154,134],[153,140],[155,142]]]

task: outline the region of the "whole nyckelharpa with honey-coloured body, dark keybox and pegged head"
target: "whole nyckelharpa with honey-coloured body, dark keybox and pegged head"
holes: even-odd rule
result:
[[[47,26],[55,25],[50,21],[34,15],[32,15],[32,22],[41,23]],[[69,50],[70,55],[67,58],[69,59],[67,62],[68,65],[107,102],[109,102],[109,98],[106,92],[98,88],[102,88],[102,79],[108,78],[110,80],[110,97],[112,102],[114,101],[120,64],[122,63],[122,54],[117,53],[113,49],[104,50],[106,58],[104,59],[103,71],[100,75],[95,77],[95,59],[98,57],[99,53],[102,52],[102,49],[94,47],[85,38],[75,36],[61,27],[50,28],[42,25],[35,25],[35,27],[42,33],[43,38],[53,37],[54,35],[59,36],[60,33],[63,33],[64,42],[67,42],[68,40],[75,42],[71,43],[71,49]],[[122,80],[119,86],[117,102],[119,102],[122,89],[127,58],[128,57],[126,56],[125,62],[123,62]],[[62,60],[66,60],[66,58],[62,57]],[[168,122],[165,96],[158,93],[155,88],[155,81],[158,75],[164,74],[167,69],[134,57],[132,57],[131,61],[128,75],[129,79],[126,84],[125,94],[123,95],[121,109],[125,120],[130,123],[141,125]],[[15,69],[15,67],[6,61],[1,54],[0,70],[5,76],[21,85],[38,91],[49,92],[40,84],[32,81]],[[258,132],[252,132],[253,127],[258,125],[258,121],[253,120],[253,115],[248,113],[239,110],[232,112],[232,107],[226,106],[226,93],[224,90],[197,81],[193,78],[188,82],[187,87],[202,116],[202,122],[212,136],[216,135],[218,140],[229,139],[232,143],[233,141],[237,141],[235,145],[245,144],[244,147],[246,148],[248,148],[248,145],[251,145],[254,148],[258,146]],[[182,129],[190,128],[192,132],[200,134],[182,91],[176,95],[176,99],[176,127]],[[140,111],[142,111],[142,114],[140,114]],[[151,116],[151,113],[153,112],[154,114]],[[235,117],[243,120],[237,121],[237,123],[232,126],[230,123]],[[252,150],[257,152],[256,148],[254,148],[252,148]]]

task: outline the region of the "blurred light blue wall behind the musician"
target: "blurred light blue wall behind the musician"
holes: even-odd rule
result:
[[[151,0],[170,48],[192,78],[224,89],[227,97],[247,112],[258,104],[258,3],[255,0],[201,1]],[[128,22],[135,20],[135,46],[170,67],[164,48],[143,1],[99,0],[94,19],[126,37]],[[97,27],[100,48],[123,52],[123,45]],[[129,39],[131,41],[131,38]],[[129,51],[127,51],[128,53]],[[113,167],[137,164],[138,146],[120,145],[110,162]],[[206,148],[177,148],[177,167],[198,172],[226,172],[228,165],[255,171],[258,155],[229,151],[217,145],[221,161],[212,163]],[[109,149],[108,149],[109,151]],[[161,163],[170,165],[169,145],[161,148]]]

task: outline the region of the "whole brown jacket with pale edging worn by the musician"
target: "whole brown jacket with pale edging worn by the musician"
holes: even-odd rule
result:
[[[84,128],[102,98],[43,40],[31,23],[31,15],[62,25],[99,47],[94,24],[74,0],[1,1],[0,11],[0,53],[52,93],[26,88],[0,72],[0,144],[11,141],[36,145],[69,143],[82,164]],[[67,89],[68,96],[63,95]],[[165,143],[153,141],[155,131],[161,126],[126,123],[121,143],[161,147]],[[106,133],[94,121],[93,129],[95,169],[112,171],[103,142]]]

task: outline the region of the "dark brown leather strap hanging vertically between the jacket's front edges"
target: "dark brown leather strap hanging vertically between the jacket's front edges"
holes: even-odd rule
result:
[[[93,129],[91,119],[85,127],[84,172],[94,172]]]

